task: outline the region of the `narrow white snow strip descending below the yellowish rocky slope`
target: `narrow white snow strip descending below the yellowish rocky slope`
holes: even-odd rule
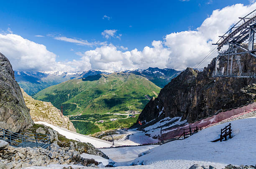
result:
[[[58,131],[59,134],[61,134],[63,136],[66,136],[67,139],[73,139],[73,140],[78,140],[78,141],[81,141],[81,142],[84,142],[84,143],[90,143],[93,146],[95,146],[96,148],[111,147],[112,146],[112,143],[109,142],[109,141],[105,141],[105,140],[101,140],[101,139],[96,139],[94,137],[78,134],[78,133],[69,131],[67,129],[63,129],[63,128],[60,128],[60,127],[53,126],[53,125],[51,125],[49,123],[46,123],[44,121],[37,121],[35,123],[36,124],[44,124],[46,126],[49,126],[52,129],[54,129],[55,131]],[[120,146],[120,144],[115,144],[115,146]]]

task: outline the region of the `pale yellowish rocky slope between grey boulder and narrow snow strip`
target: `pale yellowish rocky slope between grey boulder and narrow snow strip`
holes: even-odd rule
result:
[[[33,121],[44,121],[54,126],[66,128],[76,132],[76,129],[67,116],[61,116],[61,111],[54,107],[50,102],[38,101],[29,96],[22,88],[26,106],[30,109],[29,113]]]

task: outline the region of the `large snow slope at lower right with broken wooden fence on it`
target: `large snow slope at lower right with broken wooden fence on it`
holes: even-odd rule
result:
[[[136,158],[131,163],[151,164],[147,168],[188,169],[193,164],[225,168],[227,164],[255,165],[256,118],[229,122],[233,138],[223,142],[211,142],[220,136],[220,129],[228,123],[213,126],[190,136],[185,140],[172,141]],[[153,164],[154,163],[154,164]],[[132,166],[131,166],[132,168]]]

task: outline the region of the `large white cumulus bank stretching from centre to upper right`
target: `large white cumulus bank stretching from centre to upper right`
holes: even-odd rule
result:
[[[122,52],[113,45],[89,50],[83,55],[90,61],[92,69],[123,70],[127,68],[174,68],[183,70],[195,67],[215,46],[219,35],[223,35],[238,17],[246,15],[256,8],[256,4],[245,6],[236,4],[221,10],[214,10],[202,25],[195,30],[171,33],[163,40],[153,41],[153,47],[144,47],[142,51],[133,49]],[[211,55],[203,66],[207,66],[217,53]]]

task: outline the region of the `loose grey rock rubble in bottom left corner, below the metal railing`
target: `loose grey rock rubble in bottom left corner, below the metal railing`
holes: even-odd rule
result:
[[[2,143],[2,144],[1,144]],[[14,148],[7,142],[1,141],[0,168],[17,169],[28,166],[46,166],[48,164],[78,164],[82,166],[97,166],[99,162],[94,159],[84,159],[80,153],[67,147],[51,146],[51,151],[41,147]]]

